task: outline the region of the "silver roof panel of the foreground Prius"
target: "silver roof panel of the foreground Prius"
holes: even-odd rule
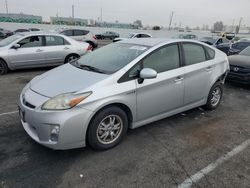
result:
[[[171,38],[132,38],[132,39],[125,39],[119,41],[118,43],[124,44],[135,44],[135,45],[142,45],[142,46],[156,46],[162,43],[174,43],[174,42],[194,42],[202,44],[196,40],[188,40],[188,39],[171,39]]]

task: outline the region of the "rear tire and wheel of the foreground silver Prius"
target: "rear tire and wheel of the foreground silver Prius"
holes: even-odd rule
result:
[[[208,98],[207,98],[207,104],[204,106],[207,110],[214,110],[216,109],[222,99],[223,89],[222,84],[219,82],[216,82],[213,87],[210,89]]]

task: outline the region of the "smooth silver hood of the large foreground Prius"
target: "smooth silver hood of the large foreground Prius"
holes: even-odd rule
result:
[[[35,77],[30,83],[30,89],[51,98],[62,93],[87,89],[108,76],[66,64]]]

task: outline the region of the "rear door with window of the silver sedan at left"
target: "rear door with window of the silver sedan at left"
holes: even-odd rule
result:
[[[71,50],[70,43],[61,36],[45,36],[45,45],[45,63],[52,66],[63,64]]]

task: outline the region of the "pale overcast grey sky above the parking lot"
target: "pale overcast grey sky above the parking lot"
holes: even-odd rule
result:
[[[210,27],[216,21],[225,25],[250,26],[250,0],[7,0],[10,13],[41,15],[45,21],[50,16],[69,17],[72,4],[75,17],[103,21],[132,23],[139,19],[143,25],[168,26],[171,12],[173,25]],[[0,0],[0,13],[5,13],[5,0]]]

